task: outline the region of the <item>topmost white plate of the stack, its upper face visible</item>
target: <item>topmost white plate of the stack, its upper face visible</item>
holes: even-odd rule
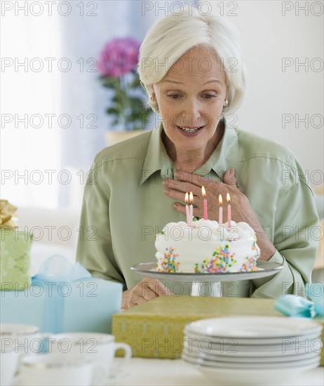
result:
[[[289,338],[320,333],[322,326],[303,318],[222,317],[201,319],[185,326],[186,331],[216,338]]]

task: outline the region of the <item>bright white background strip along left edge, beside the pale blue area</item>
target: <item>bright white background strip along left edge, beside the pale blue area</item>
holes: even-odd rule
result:
[[[60,58],[57,13],[33,16],[27,1],[11,3],[0,4],[1,199],[55,208],[60,137],[45,114],[60,115],[60,74],[44,58]],[[54,171],[53,178],[44,171]]]

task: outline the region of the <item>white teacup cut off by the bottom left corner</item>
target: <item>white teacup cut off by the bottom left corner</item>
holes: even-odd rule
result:
[[[13,382],[18,367],[19,353],[15,347],[4,347],[1,343],[0,352],[0,385],[9,386]]]

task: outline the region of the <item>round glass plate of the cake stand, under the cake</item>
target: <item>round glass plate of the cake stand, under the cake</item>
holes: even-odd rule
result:
[[[140,262],[133,265],[130,269],[137,272],[142,277],[151,277],[154,279],[168,279],[177,281],[188,281],[195,283],[199,281],[201,283],[207,281],[241,281],[250,279],[260,279],[261,277],[269,277],[283,269],[283,265],[277,262],[259,261],[257,262],[258,271],[255,272],[220,272],[215,274],[189,274],[184,272],[170,273],[170,272],[158,272],[157,262]]]

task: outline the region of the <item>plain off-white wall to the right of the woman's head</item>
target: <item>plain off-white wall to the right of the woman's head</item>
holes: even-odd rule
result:
[[[323,182],[323,1],[210,4],[217,13],[223,9],[241,34],[248,90],[237,126],[290,148],[313,185]],[[292,63],[285,71],[283,58]],[[300,65],[307,60],[306,68]],[[306,114],[305,124],[300,119]]]

